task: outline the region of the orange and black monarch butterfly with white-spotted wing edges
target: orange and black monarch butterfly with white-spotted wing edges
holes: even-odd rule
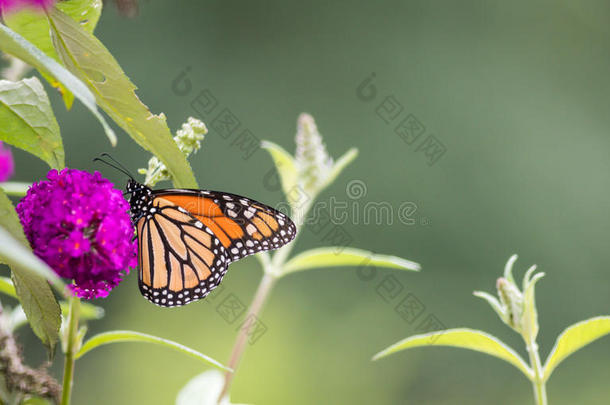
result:
[[[176,307],[208,295],[231,262],[292,241],[296,226],[283,213],[236,194],[152,190],[127,174],[138,240],[138,285],[152,303]]]

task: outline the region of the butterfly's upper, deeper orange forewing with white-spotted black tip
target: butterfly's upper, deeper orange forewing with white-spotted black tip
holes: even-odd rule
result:
[[[231,261],[277,249],[296,235],[286,215],[258,201],[208,190],[159,190],[163,198],[186,210],[220,241]]]

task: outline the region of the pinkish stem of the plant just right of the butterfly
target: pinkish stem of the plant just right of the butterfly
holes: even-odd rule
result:
[[[256,294],[254,295],[254,299],[250,304],[250,308],[248,309],[248,313],[246,319],[250,319],[253,317],[258,317],[269,297],[269,293],[271,289],[275,285],[277,278],[265,271],[263,274],[263,278],[261,279],[260,284],[258,285],[258,289],[256,290]],[[256,318],[254,318],[256,319]],[[237,372],[237,367],[239,366],[239,362],[246,348],[246,343],[248,341],[248,329],[247,327],[243,327],[239,329],[237,334],[237,339],[235,340],[235,345],[233,346],[233,351],[231,353],[231,359],[229,360],[228,367],[233,369],[233,371],[227,371],[225,373],[225,381],[220,392],[220,396],[218,397],[218,403],[222,401],[222,399],[228,394],[229,389],[231,387],[231,382],[235,377],[235,373]]]

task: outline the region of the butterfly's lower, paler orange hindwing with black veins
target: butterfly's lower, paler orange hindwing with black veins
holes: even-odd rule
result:
[[[140,291],[160,306],[204,298],[220,284],[231,261],[212,229],[164,198],[154,198],[137,232]]]

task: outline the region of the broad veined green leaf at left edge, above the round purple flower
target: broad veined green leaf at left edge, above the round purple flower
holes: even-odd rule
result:
[[[47,162],[64,167],[64,146],[51,103],[36,77],[0,80],[0,140]]]

